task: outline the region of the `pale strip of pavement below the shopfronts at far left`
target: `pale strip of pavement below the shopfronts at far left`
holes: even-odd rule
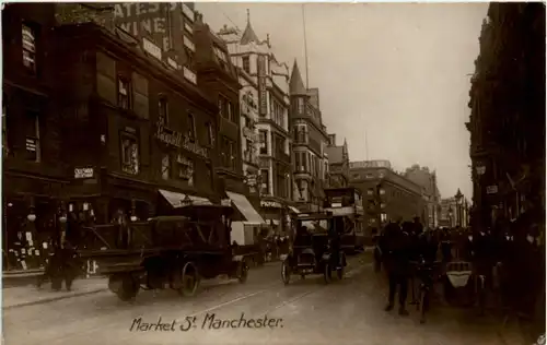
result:
[[[82,295],[95,294],[108,289],[108,281],[104,277],[92,277],[88,279],[77,279],[73,283],[72,290],[53,292],[49,284],[38,289],[36,286],[15,286],[2,289],[2,309],[12,309],[32,305],[46,304],[65,298],[71,298]]]

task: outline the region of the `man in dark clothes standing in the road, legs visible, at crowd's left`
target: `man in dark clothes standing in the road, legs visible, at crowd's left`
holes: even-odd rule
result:
[[[399,314],[408,316],[406,299],[408,294],[409,243],[408,234],[400,228],[400,219],[389,223],[382,238],[384,266],[389,279],[389,296],[386,311],[391,311],[395,302],[395,293],[399,286]]]

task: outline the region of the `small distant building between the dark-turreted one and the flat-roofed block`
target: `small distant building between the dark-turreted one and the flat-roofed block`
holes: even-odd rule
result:
[[[348,143],[336,145],[336,134],[328,134],[329,143],[325,148],[328,155],[328,179],[329,188],[345,188],[349,186],[349,153]]]

